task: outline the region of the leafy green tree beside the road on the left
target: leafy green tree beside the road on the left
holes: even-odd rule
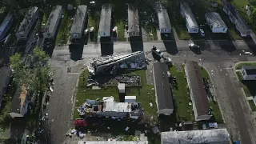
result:
[[[14,82],[20,85],[25,84],[35,92],[43,92],[49,87],[49,56],[36,47],[32,54],[24,59],[18,53],[10,57],[10,66],[14,70]]]

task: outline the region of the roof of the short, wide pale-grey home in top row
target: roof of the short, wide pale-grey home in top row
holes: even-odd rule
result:
[[[222,17],[218,13],[206,13],[206,18],[208,18],[209,22],[211,23],[211,26],[213,26],[214,28],[227,27],[225,22],[222,20]]]

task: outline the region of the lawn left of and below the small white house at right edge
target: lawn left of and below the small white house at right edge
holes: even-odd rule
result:
[[[242,83],[242,88],[246,93],[247,97],[256,95],[256,82],[255,81],[243,81],[242,80],[242,74],[240,71],[237,71],[236,74],[238,75],[239,81]]]

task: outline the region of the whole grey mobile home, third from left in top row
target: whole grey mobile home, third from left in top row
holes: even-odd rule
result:
[[[58,24],[62,18],[62,6],[54,6],[51,11],[46,26],[44,28],[44,38],[54,38],[57,33]]]

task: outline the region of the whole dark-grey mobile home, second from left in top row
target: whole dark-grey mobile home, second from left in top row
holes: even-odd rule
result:
[[[26,39],[34,22],[36,22],[38,18],[39,10],[38,7],[32,7],[26,14],[25,18],[23,18],[20,26],[18,27],[16,38],[17,40]]]

